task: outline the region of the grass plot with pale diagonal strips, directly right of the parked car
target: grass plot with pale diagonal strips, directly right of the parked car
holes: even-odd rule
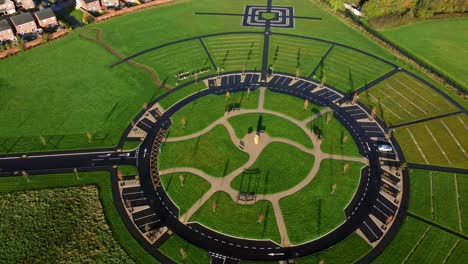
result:
[[[468,168],[467,125],[460,114],[398,128],[395,136],[410,162]]]

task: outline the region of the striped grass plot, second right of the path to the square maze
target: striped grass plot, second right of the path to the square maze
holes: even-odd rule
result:
[[[343,91],[363,87],[392,70],[392,66],[351,49],[335,46],[323,62],[316,79]]]

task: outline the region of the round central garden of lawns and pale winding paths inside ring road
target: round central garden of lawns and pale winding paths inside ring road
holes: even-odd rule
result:
[[[346,220],[366,159],[331,109],[259,88],[177,109],[158,164],[182,222],[299,245]]]

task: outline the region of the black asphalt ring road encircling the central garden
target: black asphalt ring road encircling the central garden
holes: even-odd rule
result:
[[[273,87],[270,88],[274,89]],[[335,116],[343,122],[343,125],[346,126],[355,138],[361,153],[369,159],[370,173],[363,174],[363,178],[360,181],[357,191],[358,196],[353,198],[353,201],[356,202],[351,203],[355,206],[355,208],[350,208],[350,211],[353,212],[353,214],[347,216],[346,221],[331,233],[306,244],[292,247],[281,247],[271,241],[234,238],[207,229],[198,224],[185,225],[181,223],[178,220],[177,208],[168,198],[164,189],[161,187],[155,189],[153,187],[149,170],[150,155],[146,155],[144,153],[151,153],[151,147],[153,146],[153,141],[155,140],[158,131],[160,129],[168,129],[170,126],[169,118],[175,112],[202,96],[206,96],[210,93],[220,94],[227,90],[225,87],[218,87],[206,89],[186,97],[171,108],[167,109],[167,111],[164,112],[164,114],[155,123],[152,130],[140,146],[138,163],[143,192],[146,198],[150,201],[150,206],[159,215],[164,225],[190,243],[210,252],[238,259],[284,260],[307,256],[331,247],[337,242],[345,239],[362,224],[363,219],[369,215],[371,207],[375,202],[380,189],[380,165],[375,146],[373,144],[369,144],[370,139],[366,136],[365,132],[356,120],[354,120],[350,114],[339,106],[327,101],[325,98],[312,95],[308,90],[300,91],[286,89],[285,87],[283,88],[275,91],[290,94],[302,99],[307,98],[312,102],[321,102],[321,104],[331,107],[335,111]],[[229,88],[229,90],[242,89],[247,88],[245,85],[243,87]]]

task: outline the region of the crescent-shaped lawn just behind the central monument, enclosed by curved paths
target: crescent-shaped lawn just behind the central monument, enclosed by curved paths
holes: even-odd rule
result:
[[[313,148],[312,141],[304,130],[281,117],[270,114],[245,114],[228,119],[239,139],[244,138],[249,132],[255,132],[259,120],[261,120],[262,123],[262,130],[267,133],[268,136],[290,139],[304,147]]]

